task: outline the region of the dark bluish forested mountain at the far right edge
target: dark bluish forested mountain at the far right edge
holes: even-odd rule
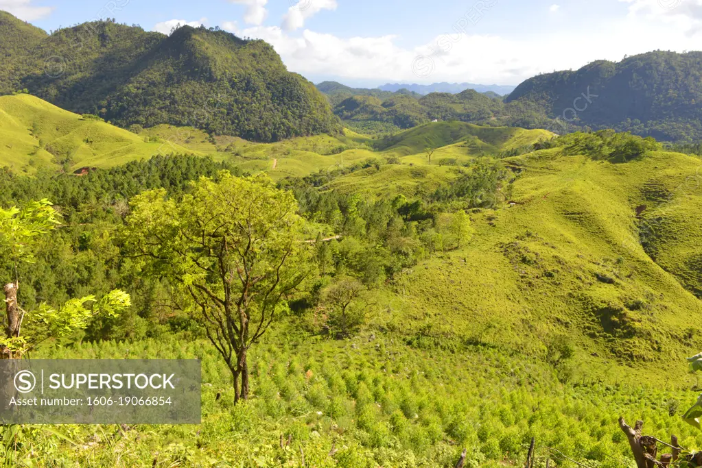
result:
[[[591,95],[584,111],[574,99]],[[505,102],[538,104],[550,118],[615,128],[665,140],[702,138],[702,52],[655,51],[621,62],[600,60],[577,71],[529,78]],[[581,99],[576,106],[583,108]]]

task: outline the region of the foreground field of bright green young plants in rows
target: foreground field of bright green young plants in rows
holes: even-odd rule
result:
[[[685,448],[702,446],[702,434],[677,412],[694,401],[687,390],[562,386],[548,364],[500,350],[408,350],[367,334],[310,340],[289,326],[251,356],[254,398],[236,406],[216,352],[184,348],[175,336],[39,350],[36,357],[60,359],[202,359],[204,424],[66,426],[61,437],[29,427],[13,446],[14,460],[42,467],[452,467],[468,448],[465,466],[497,467],[523,462],[535,437],[541,465],[548,456],[561,467],[576,466],[564,457],[624,467],[630,453],[619,415],[677,434]]]

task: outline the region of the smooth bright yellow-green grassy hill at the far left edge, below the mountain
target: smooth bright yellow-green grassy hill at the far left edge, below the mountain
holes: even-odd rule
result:
[[[159,153],[198,153],[105,122],[84,119],[30,95],[0,96],[0,162],[18,172],[114,167]]]

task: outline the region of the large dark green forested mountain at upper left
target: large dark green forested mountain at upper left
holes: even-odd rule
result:
[[[0,94],[27,88],[122,127],[192,125],[264,142],[340,131],[324,96],[264,41],[187,26],[165,36],[112,21],[42,39],[0,18],[0,53],[17,64],[0,70]]]

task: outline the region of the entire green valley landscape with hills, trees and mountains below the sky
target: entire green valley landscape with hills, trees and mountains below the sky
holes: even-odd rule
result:
[[[201,424],[3,420],[0,467],[633,467],[621,417],[700,453],[700,53],[496,95],[219,27],[0,39],[0,357],[201,365]]]

